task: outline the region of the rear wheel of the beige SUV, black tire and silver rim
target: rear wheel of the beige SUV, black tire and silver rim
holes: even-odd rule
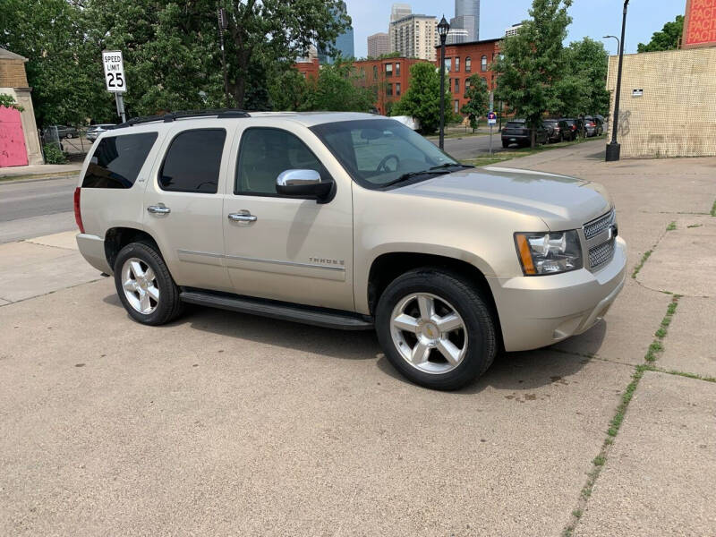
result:
[[[141,274],[147,274],[147,281]],[[153,276],[153,278],[151,278]],[[134,284],[127,284],[133,280]],[[125,291],[124,285],[132,286]],[[162,325],[175,320],[183,310],[169,268],[158,253],[157,245],[150,241],[130,243],[117,254],[115,260],[115,287],[119,300],[130,317],[141,324]]]

